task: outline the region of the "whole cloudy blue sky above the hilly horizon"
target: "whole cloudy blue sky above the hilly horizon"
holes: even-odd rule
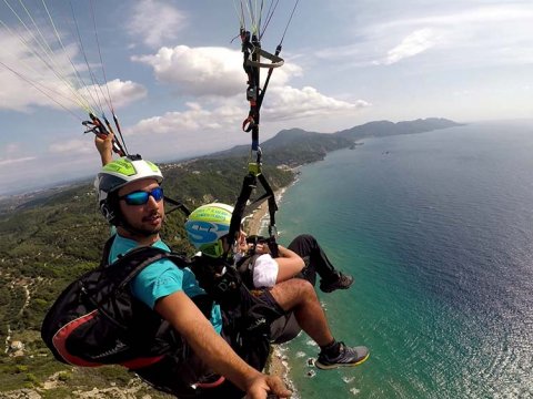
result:
[[[73,91],[87,90],[76,83],[72,64],[90,85],[83,53],[97,84],[111,94],[130,152],[158,162],[249,143],[241,131],[248,103],[240,40],[232,41],[235,4],[0,2],[0,195],[98,171],[92,137],[82,134],[86,112],[72,101]],[[274,51],[293,4],[280,1],[262,39],[265,50]],[[329,133],[375,120],[529,119],[532,20],[531,1],[301,0],[283,41],[285,64],[274,71],[263,103],[261,141],[282,129]],[[21,40],[37,28],[56,73],[31,50],[34,42]],[[6,66],[54,91],[46,96]]]

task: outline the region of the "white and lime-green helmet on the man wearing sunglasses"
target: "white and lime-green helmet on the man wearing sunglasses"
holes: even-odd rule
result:
[[[128,155],[103,166],[94,181],[100,212],[109,223],[120,223],[117,192],[124,185],[143,178],[163,181],[159,167],[140,155]]]

